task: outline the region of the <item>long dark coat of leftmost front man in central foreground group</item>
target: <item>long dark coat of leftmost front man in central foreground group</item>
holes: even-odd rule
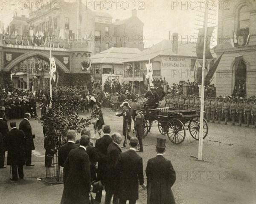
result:
[[[61,204],[89,204],[91,187],[89,155],[82,147],[72,149],[64,163],[64,190]]]

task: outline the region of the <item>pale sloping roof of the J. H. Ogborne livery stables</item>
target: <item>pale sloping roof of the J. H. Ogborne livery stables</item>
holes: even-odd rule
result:
[[[172,52],[172,46],[173,43],[171,40],[162,40],[160,43],[155,44],[150,49],[145,49],[131,59],[124,60],[124,62],[146,61],[159,55],[196,57],[195,43],[185,41],[178,42],[177,54]]]

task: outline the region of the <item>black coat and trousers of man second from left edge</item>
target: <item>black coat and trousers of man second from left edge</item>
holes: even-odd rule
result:
[[[26,139],[24,132],[17,128],[6,134],[6,147],[8,149],[7,165],[12,165],[12,179],[23,178],[23,165],[25,164]],[[17,171],[18,169],[18,171]]]

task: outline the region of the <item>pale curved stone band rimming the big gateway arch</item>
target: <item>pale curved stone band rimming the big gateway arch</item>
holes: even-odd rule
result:
[[[49,58],[50,55],[48,53],[45,52],[40,52],[40,51],[30,51],[30,52],[26,52],[23,55],[20,55],[19,57],[15,58],[14,60],[12,60],[12,62],[10,62],[7,66],[6,66],[6,71],[10,71],[17,63],[19,63],[20,61],[25,60],[26,58],[35,56],[35,55],[41,55],[43,57]],[[69,73],[70,71],[67,69],[66,66],[64,66],[63,63],[61,63],[60,60],[58,60],[57,58],[55,58],[55,63],[56,65],[58,65],[62,71],[64,71],[65,73]]]

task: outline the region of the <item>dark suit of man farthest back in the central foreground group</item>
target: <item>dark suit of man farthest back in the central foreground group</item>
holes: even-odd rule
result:
[[[99,155],[99,162],[98,162],[98,172],[97,172],[97,180],[102,181],[102,184],[105,185],[106,180],[106,166],[107,166],[107,149],[108,146],[111,144],[112,138],[109,135],[103,135],[102,138],[96,140],[95,148]],[[95,200],[99,203],[101,202],[102,198],[102,191],[99,190],[96,193]]]

